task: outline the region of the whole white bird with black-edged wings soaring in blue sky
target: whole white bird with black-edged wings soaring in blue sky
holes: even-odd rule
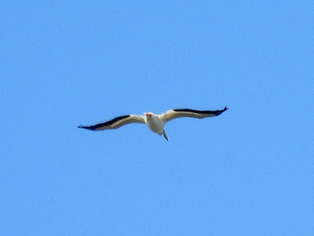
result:
[[[199,111],[199,110],[191,110],[191,109],[174,109],[169,110],[164,114],[155,115],[153,112],[144,113],[144,115],[122,115],[116,117],[110,121],[105,123],[100,123],[93,126],[78,126],[78,128],[89,129],[89,130],[106,130],[106,129],[117,129],[123,125],[127,125],[130,123],[143,123],[148,126],[148,128],[159,134],[164,135],[165,139],[168,140],[168,136],[164,130],[165,123],[180,117],[193,117],[193,118],[206,118],[220,115],[224,111],[228,110],[225,107],[223,110],[216,111]]]

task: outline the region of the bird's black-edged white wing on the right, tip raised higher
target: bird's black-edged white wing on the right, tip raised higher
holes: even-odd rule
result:
[[[173,119],[179,118],[179,117],[193,117],[193,118],[206,118],[206,117],[213,117],[220,115],[224,111],[228,110],[227,107],[224,108],[224,110],[216,110],[216,111],[199,111],[199,110],[191,110],[191,109],[174,109],[169,110],[164,114],[158,115],[158,117],[164,121],[168,122]]]

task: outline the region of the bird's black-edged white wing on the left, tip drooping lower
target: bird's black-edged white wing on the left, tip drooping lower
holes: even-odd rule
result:
[[[123,125],[127,125],[130,123],[144,123],[145,124],[145,119],[143,116],[140,116],[140,115],[122,115],[110,121],[107,121],[105,123],[100,123],[93,126],[78,126],[78,128],[100,131],[100,130],[106,130],[106,129],[117,129]]]

